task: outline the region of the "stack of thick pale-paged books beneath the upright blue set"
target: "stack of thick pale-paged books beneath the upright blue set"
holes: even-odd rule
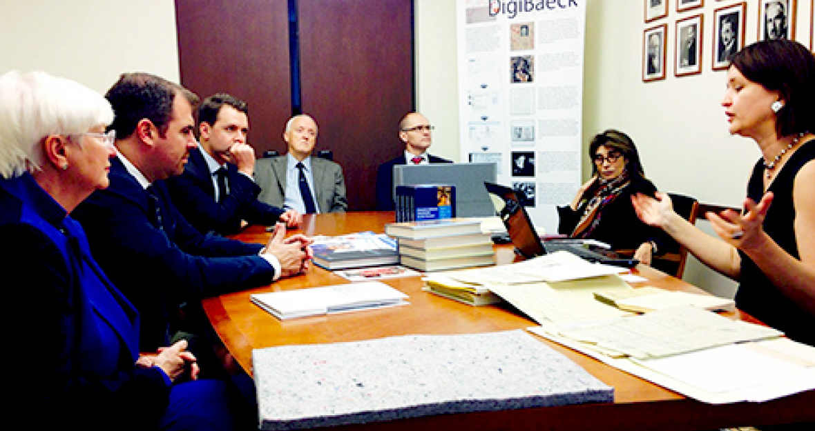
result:
[[[495,263],[492,239],[481,220],[445,219],[385,224],[397,239],[399,262],[420,271],[469,268]]]

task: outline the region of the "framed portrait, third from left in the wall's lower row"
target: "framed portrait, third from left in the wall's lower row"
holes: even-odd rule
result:
[[[713,70],[726,69],[730,60],[744,47],[744,20],[747,3],[735,3],[713,11]]]

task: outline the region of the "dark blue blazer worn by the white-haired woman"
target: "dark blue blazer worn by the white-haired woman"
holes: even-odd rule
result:
[[[170,380],[134,366],[138,313],[91,257],[81,226],[26,173],[0,180],[0,234],[14,245],[0,259],[4,295],[27,311],[7,333],[24,353],[24,367],[6,373],[15,416],[33,429],[155,426]]]

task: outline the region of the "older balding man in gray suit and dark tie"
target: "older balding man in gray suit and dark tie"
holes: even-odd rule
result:
[[[286,123],[283,139],[289,153],[260,159],[255,181],[261,186],[258,199],[301,214],[344,212],[348,208],[342,168],[331,160],[311,157],[317,143],[317,123],[310,115],[295,115]]]

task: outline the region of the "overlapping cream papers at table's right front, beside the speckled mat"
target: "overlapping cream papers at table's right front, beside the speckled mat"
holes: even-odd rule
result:
[[[529,330],[704,403],[764,402],[815,389],[815,347],[698,307]]]

